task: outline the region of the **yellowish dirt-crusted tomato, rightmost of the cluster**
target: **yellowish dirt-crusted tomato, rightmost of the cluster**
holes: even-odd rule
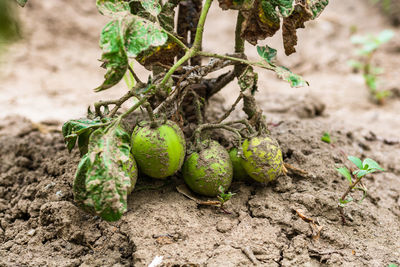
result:
[[[273,181],[282,172],[282,151],[276,140],[268,136],[246,139],[242,145],[241,163],[247,174],[260,183]]]

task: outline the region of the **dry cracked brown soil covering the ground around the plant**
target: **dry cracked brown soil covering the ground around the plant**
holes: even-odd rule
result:
[[[79,155],[68,153],[59,130],[85,106],[126,91],[123,83],[100,95],[90,90],[103,75],[96,43],[106,19],[85,1],[29,2],[21,10],[25,39],[1,59],[0,266],[147,266],[156,256],[164,266],[400,265],[400,101],[371,103],[362,76],[346,65],[354,56],[351,26],[362,34],[391,26],[368,1],[331,2],[299,31],[295,55],[281,53],[279,37],[268,41],[310,87],[288,88],[259,70],[257,101],[272,136],[285,162],[303,171],[267,186],[234,183],[230,213],[182,194],[180,175],[166,182],[140,177],[128,212],[114,223],[74,205]],[[206,31],[205,50],[225,52],[233,15],[213,4],[209,23],[216,26]],[[376,63],[386,70],[384,88],[395,91],[400,30],[393,30]],[[214,115],[235,100],[236,87],[211,102]],[[320,140],[324,132],[332,144]],[[341,215],[337,200],[348,184],[335,168],[350,166],[344,155],[373,158],[386,171],[368,176],[366,199]]]

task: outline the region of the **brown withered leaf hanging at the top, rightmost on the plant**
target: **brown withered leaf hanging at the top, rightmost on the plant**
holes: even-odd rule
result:
[[[296,0],[292,14],[283,18],[282,35],[286,55],[296,52],[294,48],[297,45],[296,30],[304,28],[306,21],[318,17],[328,3],[329,0]]]

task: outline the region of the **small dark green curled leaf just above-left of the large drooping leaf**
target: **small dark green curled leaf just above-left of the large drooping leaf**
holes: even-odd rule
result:
[[[90,119],[78,119],[78,120],[69,120],[62,126],[62,134],[64,136],[65,142],[67,144],[68,150],[71,150],[75,147],[76,140],[78,137],[80,138],[81,135],[87,134],[87,132],[92,131],[94,127],[100,127],[103,124],[103,121],[99,119],[90,120]],[[89,133],[89,135],[90,135]],[[79,149],[84,151],[84,141],[82,140],[81,145],[79,145]],[[78,141],[79,143],[79,141]]]

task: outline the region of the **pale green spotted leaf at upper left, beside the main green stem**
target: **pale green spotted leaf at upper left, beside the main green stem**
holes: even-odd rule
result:
[[[151,46],[161,46],[168,40],[168,35],[149,20],[132,15],[125,20],[125,24],[125,49],[128,57],[137,57]]]

